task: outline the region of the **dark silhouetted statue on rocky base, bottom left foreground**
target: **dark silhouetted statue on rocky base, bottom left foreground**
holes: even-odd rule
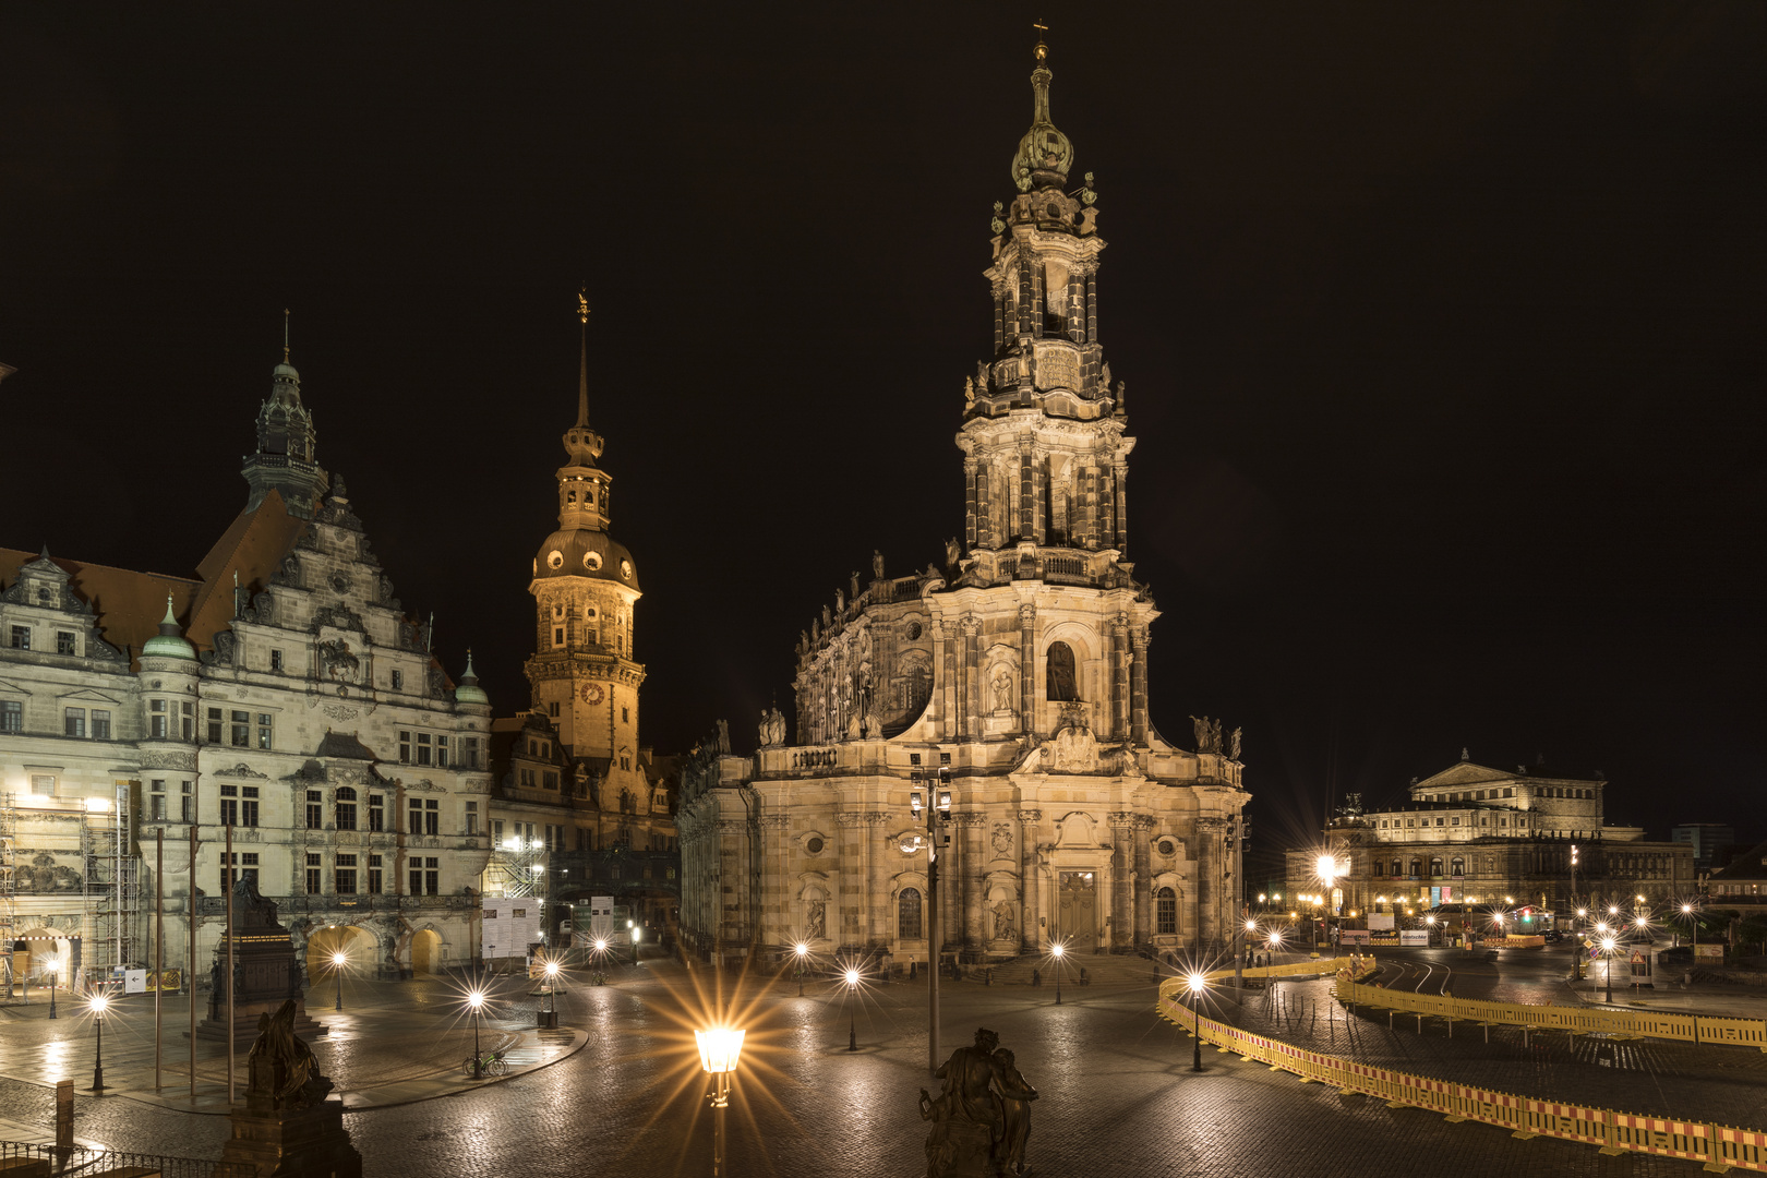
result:
[[[230,1116],[233,1134],[217,1167],[239,1178],[362,1178],[362,1155],[343,1127],[343,1104],[329,1099],[313,1051],[295,1035],[295,1003],[258,1019],[246,1061],[246,1107]]]

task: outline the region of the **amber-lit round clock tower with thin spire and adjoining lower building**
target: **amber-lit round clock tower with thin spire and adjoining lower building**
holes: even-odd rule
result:
[[[680,892],[675,768],[638,738],[641,592],[633,555],[608,535],[613,479],[597,464],[606,443],[588,426],[587,306],[581,318],[576,422],[557,472],[558,528],[541,540],[528,581],[530,708],[491,724],[497,784],[484,892],[539,899],[548,938],[564,906],[590,895],[617,897],[666,925]]]

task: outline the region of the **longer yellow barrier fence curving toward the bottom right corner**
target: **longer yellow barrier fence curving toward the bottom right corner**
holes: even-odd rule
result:
[[[1343,963],[1345,971],[1352,968],[1348,959],[1338,961]],[[1369,966],[1373,964],[1371,959],[1364,961]],[[1306,964],[1318,971],[1322,963]],[[1219,977],[1219,973],[1210,975],[1210,980]],[[1354,985],[1346,977],[1345,973],[1339,978],[1339,987]],[[1173,982],[1179,980],[1173,978]],[[1470,1084],[1456,1084],[1428,1076],[1339,1060],[1320,1051],[1295,1047],[1279,1038],[1253,1035],[1210,1017],[1198,1017],[1186,1008],[1180,985],[1182,982],[1161,985],[1159,1017],[1186,1031],[1194,1024],[1205,1044],[1233,1051],[1248,1061],[1256,1060],[1272,1070],[1299,1076],[1302,1084],[1331,1084],[1343,1093],[1378,1097],[1392,1109],[1430,1109],[1431,1113],[1440,1113],[1449,1121],[1497,1125],[1498,1129],[1511,1130],[1511,1136],[1516,1137],[1558,1137],[1562,1141],[1580,1141],[1597,1146],[1603,1153],[1650,1153],[1656,1157],[1705,1162],[1712,1169],[1730,1166],[1767,1173],[1767,1132],[1710,1121],[1679,1121],[1580,1104],[1537,1100],[1507,1091],[1474,1088]],[[1355,991],[1368,989],[1373,987],[1355,985]],[[1376,993],[1389,998],[1398,996],[1389,991]]]

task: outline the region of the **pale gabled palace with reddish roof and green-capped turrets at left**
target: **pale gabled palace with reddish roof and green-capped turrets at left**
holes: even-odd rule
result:
[[[489,701],[470,655],[444,673],[318,464],[286,350],[256,433],[247,505],[191,578],[0,549],[0,964],[19,978],[150,968],[155,883],[164,966],[194,927],[207,977],[239,878],[302,954],[382,977],[474,954]]]

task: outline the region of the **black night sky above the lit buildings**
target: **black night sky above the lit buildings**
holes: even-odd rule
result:
[[[1458,759],[1767,835],[1760,4],[1050,14],[1159,729],[1256,841]],[[588,284],[645,736],[739,749],[961,533],[1035,12],[0,11],[0,544],[187,574],[293,362],[399,595],[525,705]]]

